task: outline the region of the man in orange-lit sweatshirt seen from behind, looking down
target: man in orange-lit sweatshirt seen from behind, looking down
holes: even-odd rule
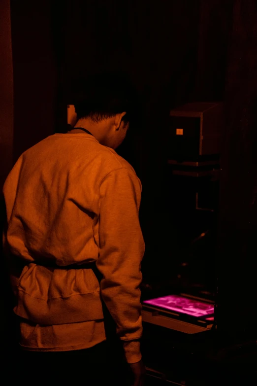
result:
[[[27,383],[40,374],[41,381],[122,386],[128,367],[131,384],[141,386],[141,182],[115,152],[135,117],[134,96],[110,74],[92,77],[85,91],[75,127],[25,151],[3,187],[17,361],[23,375],[29,364]],[[104,307],[121,351],[108,338]]]

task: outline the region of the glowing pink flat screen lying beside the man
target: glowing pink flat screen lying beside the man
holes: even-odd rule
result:
[[[161,298],[146,300],[143,303],[196,317],[214,314],[213,304],[199,302],[198,300],[188,299],[178,295],[163,296]]]

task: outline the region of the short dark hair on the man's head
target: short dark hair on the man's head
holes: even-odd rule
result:
[[[77,119],[95,122],[126,111],[123,120],[134,123],[139,118],[139,100],[135,87],[125,73],[102,72],[76,81],[74,106]]]

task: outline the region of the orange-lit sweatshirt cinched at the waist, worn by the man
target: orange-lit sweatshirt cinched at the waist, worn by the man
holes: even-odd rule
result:
[[[3,243],[17,297],[14,312],[23,318],[21,345],[67,351],[104,341],[101,293],[128,363],[140,360],[145,245],[138,219],[141,183],[133,168],[90,134],[55,134],[21,155],[3,194]],[[92,269],[68,268],[94,261],[100,286]],[[67,269],[48,268],[47,262]]]

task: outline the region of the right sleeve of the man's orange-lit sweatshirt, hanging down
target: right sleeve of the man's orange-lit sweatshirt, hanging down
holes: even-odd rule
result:
[[[104,303],[124,341],[128,363],[141,359],[142,336],[139,285],[145,244],[138,211],[141,183],[130,169],[109,173],[100,184],[99,256],[100,289]]]

